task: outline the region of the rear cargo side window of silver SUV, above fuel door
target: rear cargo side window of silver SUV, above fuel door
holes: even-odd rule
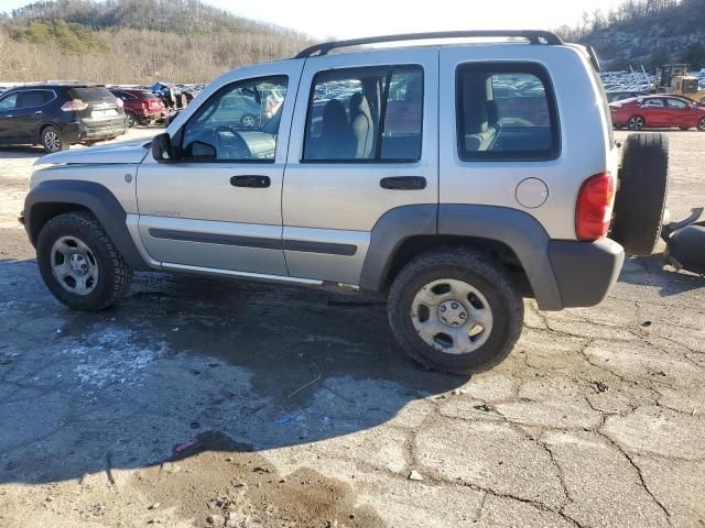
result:
[[[458,67],[457,138],[463,161],[542,161],[561,153],[553,86],[529,63]]]

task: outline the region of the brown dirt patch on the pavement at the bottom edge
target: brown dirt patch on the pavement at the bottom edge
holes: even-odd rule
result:
[[[140,471],[129,485],[196,526],[383,526],[369,506],[356,506],[356,493],[340,481],[311,468],[283,476],[262,455],[242,452],[248,448],[219,432],[204,432],[196,441],[164,464]],[[159,515],[153,520],[166,521]]]

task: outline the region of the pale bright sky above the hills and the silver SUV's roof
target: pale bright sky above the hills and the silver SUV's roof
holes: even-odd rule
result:
[[[31,0],[0,0],[0,11]],[[583,11],[608,10],[620,0],[206,0],[235,14],[291,28],[316,38],[350,38],[447,30],[554,30],[575,25]]]

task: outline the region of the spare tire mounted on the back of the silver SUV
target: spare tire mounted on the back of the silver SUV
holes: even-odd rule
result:
[[[661,235],[669,189],[669,139],[630,134],[625,142],[610,238],[627,255],[647,256]]]

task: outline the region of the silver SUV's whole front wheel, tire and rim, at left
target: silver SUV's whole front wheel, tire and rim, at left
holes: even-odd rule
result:
[[[132,271],[88,212],[67,212],[46,222],[36,260],[50,292],[75,310],[99,311],[116,304],[132,279]]]

